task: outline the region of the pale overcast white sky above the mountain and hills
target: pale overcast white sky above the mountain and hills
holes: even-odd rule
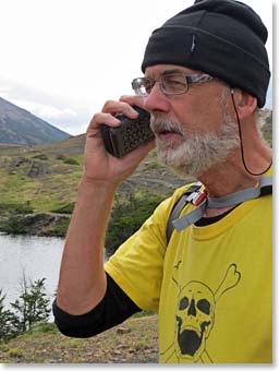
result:
[[[272,0],[259,13],[272,69]],[[0,97],[73,134],[132,94],[150,33],[193,0],[0,0]],[[271,86],[268,97],[271,108]]]

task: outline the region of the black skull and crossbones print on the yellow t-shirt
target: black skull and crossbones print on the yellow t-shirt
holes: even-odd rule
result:
[[[181,287],[175,274],[172,279],[179,290],[174,340],[161,356],[166,362],[174,355],[178,362],[214,362],[207,352],[206,342],[215,324],[215,310],[219,298],[235,287],[241,279],[236,264],[230,264],[216,291],[197,280],[191,280]]]

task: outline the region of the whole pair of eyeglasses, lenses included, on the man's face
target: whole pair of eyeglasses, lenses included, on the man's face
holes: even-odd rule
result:
[[[147,96],[158,82],[161,92],[166,95],[179,95],[188,91],[192,84],[205,83],[212,80],[209,74],[184,75],[182,73],[163,74],[159,80],[150,77],[136,77],[132,81],[132,88],[136,95]]]

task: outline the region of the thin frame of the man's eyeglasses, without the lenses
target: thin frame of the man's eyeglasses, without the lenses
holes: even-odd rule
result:
[[[183,92],[180,92],[180,93],[166,93],[165,88],[162,87],[162,80],[165,77],[169,77],[169,76],[183,76],[183,77],[185,77],[185,81],[186,81],[185,89]],[[151,77],[146,77],[146,76],[135,77],[135,79],[133,79],[131,84],[132,84],[133,91],[138,96],[148,96],[150,94],[150,93],[144,93],[144,94],[137,93],[134,85],[135,85],[136,81],[139,81],[139,80],[141,81],[146,80],[146,81],[150,82],[150,92],[151,92],[153,87],[155,86],[155,84],[159,83],[159,88],[160,88],[161,93],[163,93],[165,95],[181,95],[181,94],[185,94],[186,92],[188,92],[188,88],[192,86],[192,84],[205,83],[205,82],[211,81],[214,79],[215,79],[214,76],[211,76],[207,73],[185,75],[183,73],[174,72],[174,73],[163,74],[158,80],[151,79]]]

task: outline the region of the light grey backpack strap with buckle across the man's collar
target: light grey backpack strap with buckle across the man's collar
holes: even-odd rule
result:
[[[257,187],[248,188],[244,191],[227,194],[220,198],[207,196],[207,199],[204,200],[199,206],[194,208],[188,214],[175,220],[172,220],[171,223],[178,231],[181,231],[187,228],[188,226],[191,226],[192,224],[196,223],[197,220],[199,220],[203,217],[206,207],[207,208],[220,208],[220,207],[234,206],[242,202],[245,202],[252,199],[257,199],[263,194],[268,194],[271,192],[272,192],[272,177],[263,177],[260,178],[259,184]],[[191,200],[192,200],[192,194],[191,195],[188,194],[188,196],[184,200],[184,204],[186,204]]]

